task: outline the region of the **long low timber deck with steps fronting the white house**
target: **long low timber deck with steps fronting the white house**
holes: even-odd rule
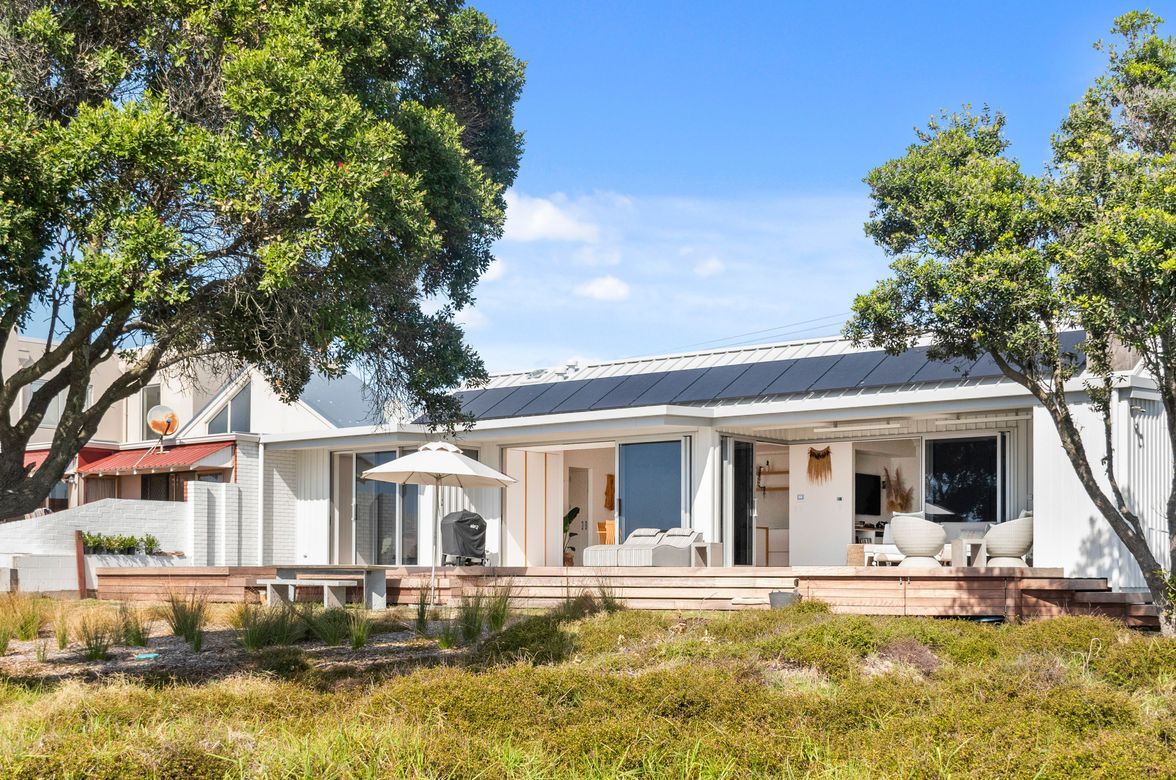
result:
[[[213,601],[260,598],[258,580],[274,567],[99,568],[98,596],[159,600],[195,591]],[[388,604],[415,602],[428,587],[426,567],[388,567]],[[796,591],[835,612],[1033,620],[1101,614],[1141,628],[1158,627],[1145,594],[1111,592],[1102,578],[1068,578],[1053,568],[739,567],[583,568],[461,567],[437,569],[439,601],[510,587],[520,607],[549,607],[583,592],[607,591],[635,609],[768,608],[773,591]],[[310,591],[312,588],[306,588]],[[358,593],[353,594],[358,599]],[[314,598],[314,594],[307,594]]]

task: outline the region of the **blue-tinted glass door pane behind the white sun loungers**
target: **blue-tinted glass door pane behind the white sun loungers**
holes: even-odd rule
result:
[[[682,442],[621,445],[621,539],[635,528],[682,525]]]

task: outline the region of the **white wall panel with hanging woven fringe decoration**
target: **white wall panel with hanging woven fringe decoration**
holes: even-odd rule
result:
[[[808,478],[810,447],[830,449],[833,473],[824,482]],[[853,442],[794,446],[788,451],[788,461],[790,565],[844,566],[847,546],[854,540]]]

